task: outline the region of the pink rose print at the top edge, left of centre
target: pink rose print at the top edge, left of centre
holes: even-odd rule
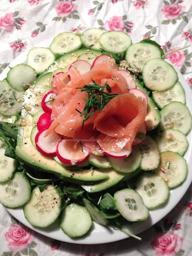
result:
[[[77,9],[77,5],[73,4],[71,2],[63,2],[60,1],[56,5],[55,9],[57,12],[57,15],[61,18],[68,16],[72,11]]]

